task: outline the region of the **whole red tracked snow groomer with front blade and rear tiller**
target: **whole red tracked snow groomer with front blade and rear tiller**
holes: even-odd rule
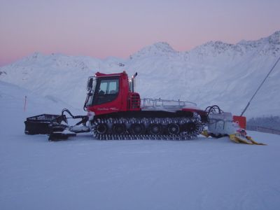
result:
[[[95,139],[186,140],[206,133],[223,137],[239,129],[232,123],[231,113],[223,113],[218,106],[204,111],[193,102],[141,99],[135,92],[136,76],[129,79],[125,71],[97,72],[87,81],[87,116],[73,116],[64,109],[60,116],[27,118],[25,134],[49,134],[49,140],[67,139],[80,132],[92,132]],[[67,118],[81,120],[70,126]],[[241,120],[246,122],[244,117]],[[209,127],[207,132],[204,127]]]

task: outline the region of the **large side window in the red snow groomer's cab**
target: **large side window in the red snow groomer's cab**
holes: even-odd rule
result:
[[[103,79],[100,81],[97,100],[94,104],[104,104],[112,102],[118,97],[119,79]]]

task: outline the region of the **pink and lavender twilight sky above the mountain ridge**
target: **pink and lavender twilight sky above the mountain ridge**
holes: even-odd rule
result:
[[[0,66],[33,52],[129,57],[166,41],[186,51],[280,30],[279,0],[0,0]]]

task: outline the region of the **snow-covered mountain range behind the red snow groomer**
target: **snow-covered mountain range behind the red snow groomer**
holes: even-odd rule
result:
[[[82,109],[88,76],[96,71],[139,73],[141,97],[181,99],[202,109],[218,104],[240,114],[280,56],[280,31],[257,41],[210,41],[188,52],[155,43],[128,59],[34,53],[0,68],[0,80]],[[246,116],[280,115],[280,64],[251,103]]]

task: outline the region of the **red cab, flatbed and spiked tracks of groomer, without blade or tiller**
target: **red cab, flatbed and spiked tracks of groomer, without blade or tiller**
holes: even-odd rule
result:
[[[190,139],[207,123],[207,113],[192,102],[142,99],[135,77],[97,72],[87,85],[85,109],[97,139]]]

